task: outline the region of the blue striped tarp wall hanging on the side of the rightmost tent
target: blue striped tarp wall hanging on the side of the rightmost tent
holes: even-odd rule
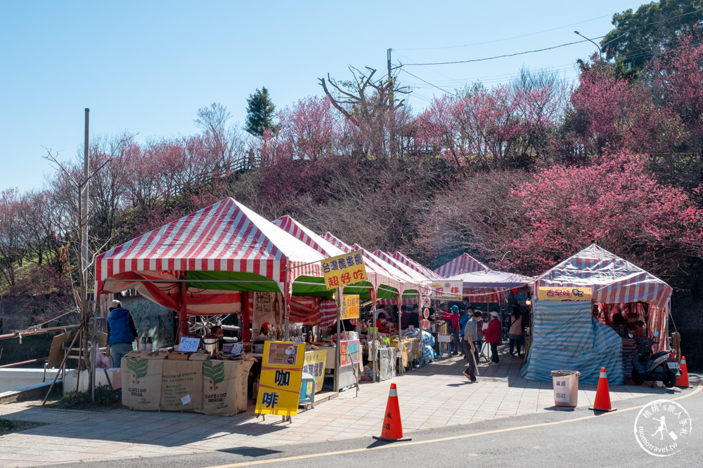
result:
[[[522,377],[551,382],[552,370],[578,370],[580,383],[597,384],[605,367],[608,383],[622,385],[622,340],[593,319],[590,301],[538,300],[533,312],[532,344]]]

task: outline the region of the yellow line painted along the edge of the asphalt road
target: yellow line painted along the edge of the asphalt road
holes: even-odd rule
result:
[[[693,395],[697,394],[702,389],[703,389],[703,386],[698,385],[696,387],[696,389],[693,392],[691,392],[690,394],[685,394],[685,395],[679,396],[678,398],[671,399],[671,401],[683,400],[685,398],[688,398],[689,396],[693,396]],[[350,450],[339,450],[337,452],[311,453],[310,455],[296,455],[295,457],[274,458],[272,460],[251,460],[248,462],[240,462],[240,463],[233,463],[233,464],[221,464],[221,465],[217,465],[214,467],[208,467],[208,468],[250,467],[254,464],[292,462],[295,460],[306,460],[308,458],[332,457],[334,455],[347,455],[349,453],[366,452],[368,450],[382,450],[384,448],[399,448],[399,447],[417,446],[417,445],[422,445],[425,443],[456,441],[459,439],[468,439],[470,437],[488,436],[490,434],[501,434],[502,432],[520,431],[522,429],[533,429],[535,427],[555,426],[557,424],[565,424],[567,422],[589,420],[589,419],[593,419],[594,417],[606,417],[608,415],[622,414],[622,413],[625,413],[626,411],[640,410],[640,409],[644,408],[645,406],[647,406],[648,404],[649,403],[642,405],[642,406],[635,406],[633,408],[626,408],[624,410],[618,410],[617,412],[612,411],[611,413],[602,413],[600,415],[594,414],[594,415],[588,415],[588,416],[574,417],[574,419],[570,419],[570,420],[553,421],[553,422],[540,422],[539,424],[528,424],[527,426],[518,426],[518,427],[506,427],[505,429],[494,429],[492,431],[474,432],[472,434],[463,434],[460,436],[442,437],[441,439],[430,439],[430,440],[426,440],[426,441],[414,441],[414,442],[411,441],[411,442],[389,443],[385,446],[368,447],[368,448],[367,447],[353,448]]]

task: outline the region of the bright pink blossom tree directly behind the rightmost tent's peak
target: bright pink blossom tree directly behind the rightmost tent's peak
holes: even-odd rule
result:
[[[623,151],[586,167],[554,166],[512,190],[524,225],[505,250],[539,273],[591,243],[665,278],[685,276],[703,253],[703,210],[662,185],[647,158]]]

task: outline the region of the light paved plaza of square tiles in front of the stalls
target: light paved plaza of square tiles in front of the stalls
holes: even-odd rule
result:
[[[336,399],[301,411],[292,424],[280,417],[257,419],[250,406],[234,417],[195,413],[150,413],[127,409],[101,413],[41,408],[36,402],[0,406],[0,416],[47,423],[0,437],[0,467],[25,467],[132,457],[201,453],[236,447],[271,448],[292,443],[379,436],[389,384],[398,386],[406,435],[422,429],[529,415],[554,410],[551,382],[520,377],[522,360],[501,355],[500,364],[479,366],[481,375],[470,384],[461,375],[460,356],[434,361],[403,377],[361,385]],[[693,382],[692,382],[692,385]],[[595,385],[581,385],[579,406],[590,406]],[[651,395],[671,398],[690,389],[612,386],[617,402]]]

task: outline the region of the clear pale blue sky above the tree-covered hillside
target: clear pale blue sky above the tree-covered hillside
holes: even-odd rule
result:
[[[348,65],[489,58],[603,36],[639,1],[17,1],[0,0],[0,189],[39,189],[46,149],[73,159],[91,135],[138,141],[191,135],[200,107],[220,102],[243,122],[266,86],[278,109],[322,94],[318,78]],[[599,39],[595,39],[596,42]],[[405,67],[439,88],[510,81],[522,66],[576,77],[589,42],[460,65]],[[439,89],[401,72],[409,104]]]

